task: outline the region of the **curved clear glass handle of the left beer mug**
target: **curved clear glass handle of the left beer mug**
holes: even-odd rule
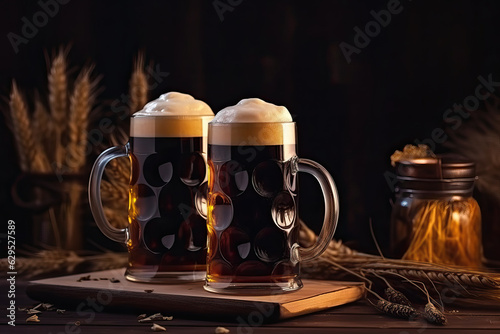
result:
[[[104,214],[101,202],[101,180],[104,168],[111,160],[120,157],[127,157],[129,145],[110,147],[97,157],[89,180],[89,204],[92,215],[101,232],[111,240],[126,243],[128,239],[127,228],[116,228],[109,223]]]

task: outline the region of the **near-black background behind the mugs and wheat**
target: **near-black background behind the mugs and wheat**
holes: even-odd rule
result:
[[[7,34],[21,35],[22,18],[33,22],[42,7],[2,0],[0,94],[8,96],[13,78],[27,95],[46,89],[45,53],[70,45],[75,72],[95,64],[94,73],[102,75],[103,114],[110,101],[128,92],[139,50],[169,73],[151,99],[174,90],[206,101],[214,111],[246,97],[285,105],[298,123],[300,156],[323,164],[337,182],[336,238],[373,251],[371,219],[385,249],[393,196],[384,177],[389,157],[430,138],[443,126],[444,111],[474,93],[479,75],[500,81],[500,2],[402,0],[401,13],[350,63],[339,44],[353,45],[353,29],[364,30],[374,20],[370,11],[386,9],[388,1],[230,3],[235,6],[221,20],[212,0],[71,0],[16,53]],[[10,198],[20,172],[3,119],[0,134],[1,218],[22,229],[29,215]],[[319,187],[308,177],[301,180],[301,216],[318,231]]]

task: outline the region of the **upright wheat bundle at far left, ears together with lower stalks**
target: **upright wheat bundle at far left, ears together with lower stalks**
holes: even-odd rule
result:
[[[89,114],[98,81],[91,78],[91,68],[87,68],[80,72],[74,84],[70,84],[66,56],[67,50],[60,49],[52,57],[47,74],[48,96],[43,101],[35,93],[31,116],[28,103],[13,81],[9,115],[22,171],[55,173],[62,182],[66,181],[67,174],[74,176],[85,171]],[[58,247],[80,249],[83,242],[81,196],[85,187],[78,182],[67,182],[71,182],[70,187],[61,192],[61,203],[39,215],[41,219],[37,224],[50,221]],[[44,228],[38,227],[39,230]]]

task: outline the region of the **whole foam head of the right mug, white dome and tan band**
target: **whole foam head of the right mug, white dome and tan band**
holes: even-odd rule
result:
[[[209,123],[209,144],[295,144],[295,123],[288,109],[261,99],[243,99],[226,107]]]

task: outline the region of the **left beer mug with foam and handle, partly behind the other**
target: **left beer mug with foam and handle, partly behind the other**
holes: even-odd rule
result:
[[[125,277],[139,282],[203,280],[206,264],[206,153],[210,107],[177,92],[149,102],[130,120],[130,139],[104,151],[90,174],[89,202],[100,230],[125,243]],[[104,215],[100,183],[106,164],[129,157],[127,228]]]

